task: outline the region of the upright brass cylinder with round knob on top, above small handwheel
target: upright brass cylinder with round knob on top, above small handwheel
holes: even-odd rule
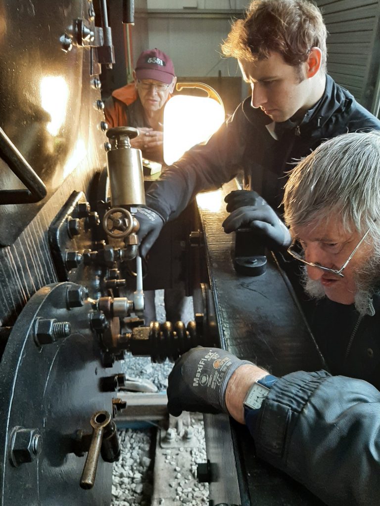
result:
[[[139,149],[131,148],[130,139],[138,130],[129,126],[118,126],[107,132],[115,146],[107,152],[108,176],[112,207],[144,205],[144,180],[142,157]]]

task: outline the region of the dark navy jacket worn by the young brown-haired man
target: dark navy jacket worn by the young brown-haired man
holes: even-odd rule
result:
[[[285,173],[324,140],[356,131],[380,130],[380,121],[344,88],[326,76],[322,98],[299,124],[276,123],[275,140],[266,128],[271,119],[253,109],[250,98],[211,137],[164,172],[146,195],[146,205],[164,221],[177,217],[200,191],[219,188],[243,169],[251,188],[273,208],[282,201]]]

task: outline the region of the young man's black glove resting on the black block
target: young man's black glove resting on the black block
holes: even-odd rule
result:
[[[265,237],[272,249],[291,244],[289,230],[272,207],[255,191],[236,190],[225,197],[227,211],[231,213],[222,223],[229,234],[239,228],[250,228]]]

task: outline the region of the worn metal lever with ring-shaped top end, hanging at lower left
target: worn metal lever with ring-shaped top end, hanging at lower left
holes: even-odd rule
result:
[[[89,489],[94,486],[104,429],[106,429],[110,423],[111,415],[108,411],[97,411],[91,416],[90,424],[93,428],[93,432],[81,478],[82,488]]]

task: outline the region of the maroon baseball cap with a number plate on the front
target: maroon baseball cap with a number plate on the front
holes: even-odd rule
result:
[[[137,79],[156,79],[166,85],[170,85],[175,76],[171,58],[157,48],[141,53],[135,72]]]

